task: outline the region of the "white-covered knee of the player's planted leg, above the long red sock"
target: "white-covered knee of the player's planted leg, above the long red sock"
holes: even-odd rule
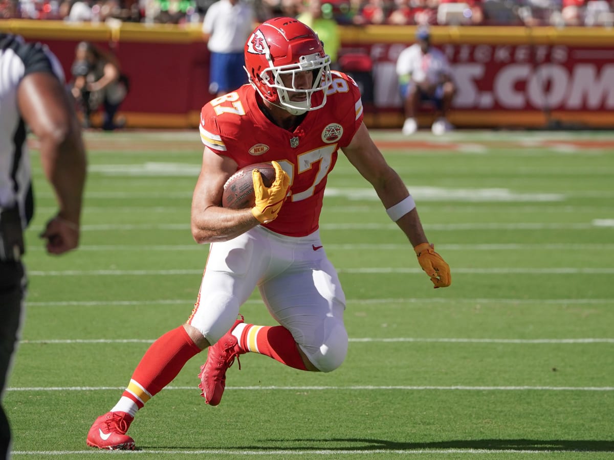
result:
[[[212,294],[201,304],[188,322],[198,329],[211,345],[222,338],[230,329],[239,314],[239,301],[228,294]]]

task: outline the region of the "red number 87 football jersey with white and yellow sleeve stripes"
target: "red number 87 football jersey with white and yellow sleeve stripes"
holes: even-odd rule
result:
[[[333,72],[324,107],[306,113],[294,131],[268,120],[257,104],[257,93],[243,85],[203,106],[203,144],[228,156],[238,167],[277,161],[290,176],[286,202],[278,217],[264,226],[287,236],[306,236],[318,228],[328,173],[339,148],[346,147],[362,123],[360,91],[348,75]],[[322,94],[314,94],[320,104]]]

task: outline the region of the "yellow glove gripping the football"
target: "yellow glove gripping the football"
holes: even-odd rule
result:
[[[277,217],[281,205],[286,200],[286,194],[290,186],[290,178],[286,171],[281,169],[277,161],[271,161],[271,163],[275,168],[275,180],[269,188],[266,188],[262,183],[260,172],[257,169],[252,171],[254,193],[256,196],[252,214],[261,224],[267,224]]]

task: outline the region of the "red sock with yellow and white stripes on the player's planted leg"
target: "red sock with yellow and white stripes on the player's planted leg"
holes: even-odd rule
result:
[[[130,398],[139,408],[177,377],[200,348],[190,339],[184,326],[166,332],[152,343],[134,369],[134,374],[122,396]]]

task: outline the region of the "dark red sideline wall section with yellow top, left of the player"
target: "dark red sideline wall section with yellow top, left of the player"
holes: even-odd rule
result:
[[[120,107],[128,126],[198,126],[200,109],[212,97],[208,91],[209,51],[200,29],[134,23],[113,29],[62,21],[5,20],[0,21],[0,31],[47,44],[60,59],[67,80],[80,41],[112,51],[130,78],[130,92]]]

